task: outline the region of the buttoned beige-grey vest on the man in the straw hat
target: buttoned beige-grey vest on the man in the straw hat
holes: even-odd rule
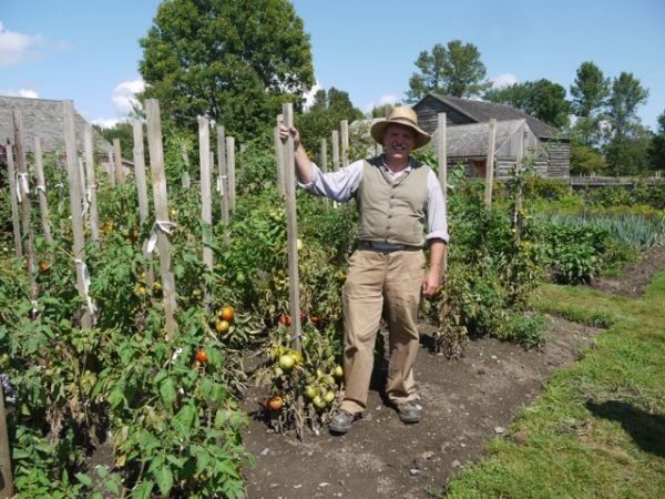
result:
[[[411,170],[392,181],[382,159],[365,161],[356,193],[360,213],[358,238],[409,246],[424,245],[429,166],[411,162]]]

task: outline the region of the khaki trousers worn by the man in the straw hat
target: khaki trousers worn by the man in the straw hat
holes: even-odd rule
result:
[[[420,249],[358,249],[351,255],[342,291],[346,381],[342,409],[358,414],[366,408],[381,314],[388,323],[390,343],[388,398],[402,404],[416,395],[413,364],[419,347],[416,320],[423,276],[424,254]]]

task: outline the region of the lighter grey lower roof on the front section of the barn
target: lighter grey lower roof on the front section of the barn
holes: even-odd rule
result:
[[[526,120],[497,121],[494,151],[498,151]],[[529,125],[526,123],[526,125]],[[438,140],[438,131],[432,135],[432,143]],[[487,156],[488,124],[473,123],[446,128],[446,150],[449,157]]]

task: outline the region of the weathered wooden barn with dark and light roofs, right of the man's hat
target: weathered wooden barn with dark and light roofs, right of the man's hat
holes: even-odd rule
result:
[[[488,123],[497,120],[494,176],[510,175],[515,164],[520,134],[523,151],[534,160],[535,171],[546,179],[570,177],[570,142],[556,129],[510,105],[429,94],[413,110],[420,126],[436,144],[438,114],[446,113],[448,164],[464,164],[467,175],[484,177],[488,154]]]

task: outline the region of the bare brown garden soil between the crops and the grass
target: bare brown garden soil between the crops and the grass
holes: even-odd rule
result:
[[[653,275],[665,267],[665,246],[646,252],[615,279],[591,285],[605,293],[638,297]],[[422,329],[416,379],[423,419],[402,424],[387,404],[385,370],[376,366],[368,410],[344,436],[326,427],[272,432],[265,421],[265,391],[244,400],[250,424],[246,448],[256,457],[247,467],[249,499],[300,498],[431,498],[466,466],[479,460],[492,438],[509,435],[516,414],[540,394],[554,369],[584,355],[600,330],[551,317],[546,344],[538,350],[492,338],[472,340],[460,359],[432,353],[431,330]],[[434,496],[436,497],[436,496]]]

